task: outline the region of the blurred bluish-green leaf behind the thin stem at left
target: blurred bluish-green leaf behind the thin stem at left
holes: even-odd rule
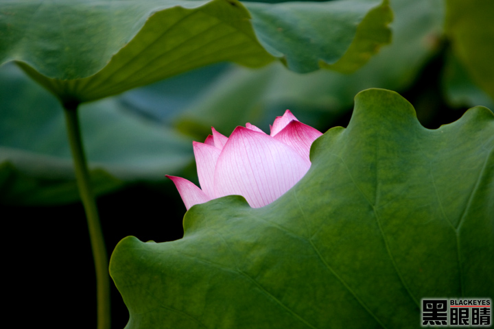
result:
[[[191,140],[135,117],[118,98],[84,105],[82,134],[95,191],[122,180],[164,180],[193,160]],[[0,69],[0,201],[56,204],[78,199],[60,103],[16,66]]]

